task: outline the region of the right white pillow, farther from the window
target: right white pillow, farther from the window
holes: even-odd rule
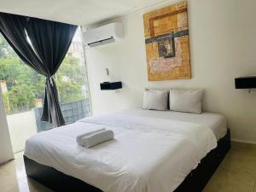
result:
[[[170,110],[201,113],[203,90],[171,89],[169,96]]]

